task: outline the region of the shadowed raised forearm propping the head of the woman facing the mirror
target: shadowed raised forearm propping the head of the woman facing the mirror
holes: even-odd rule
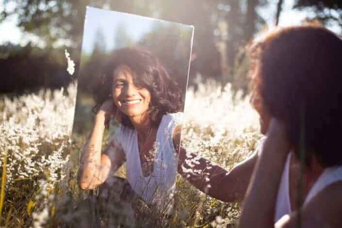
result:
[[[277,190],[290,146],[282,122],[272,118],[244,199],[239,228],[273,228]]]

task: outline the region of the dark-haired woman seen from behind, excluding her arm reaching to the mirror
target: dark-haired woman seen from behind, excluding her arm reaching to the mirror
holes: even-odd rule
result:
[[[341,53],[318,26],[254,44],[254,94],[269,117],[239,227],[342,227]]]

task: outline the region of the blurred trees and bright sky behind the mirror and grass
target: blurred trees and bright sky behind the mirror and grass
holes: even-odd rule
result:
[[[194,25],[190,84],[200,75],[244,91],[248,60],[243,47],[260,31],[302,21],[323,23],[339,34],[342,28],[342,1],[337,0],[2,0],[0,93],[60,88],[77,78],[87,5]],[[130,42],[125,25],[117,33],[112,40]],[[100,42],[105,36],[98,33],[89,53],[112,45]],[[76,64],[72,76],[65,70],[65,49]]]

